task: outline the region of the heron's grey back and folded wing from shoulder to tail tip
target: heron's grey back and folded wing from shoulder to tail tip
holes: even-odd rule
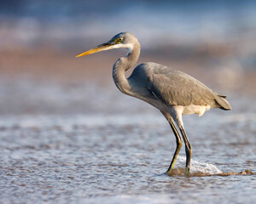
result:
[[[165,65],[153,62],[138,65],[128,81],[144,81],[145,88],[166,105],[211,105],[212,108],[230,110],[224,95],[213,92],[194,77]]]

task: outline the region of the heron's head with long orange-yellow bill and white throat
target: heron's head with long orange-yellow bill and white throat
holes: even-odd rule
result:
[[[112,37],[108,42],[104,42],[98,45],[96,48],[91,48],[86,52],[77,55],[76,57],[82,57],[84,55],[94,54],[113,48],[128,48],[129,52],[131,52],[135,45],[139,45],[137,37],[131,34],[131,32],[120,32]]]

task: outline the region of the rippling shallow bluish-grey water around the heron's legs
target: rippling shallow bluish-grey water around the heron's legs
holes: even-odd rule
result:
[[[256,200],[255,175],[200,174],[256,172],[256,117],[255,110],[249,110],[254,99],[231,95],[233,111],[184,116],[193,147],[194,176],[177,173],[169,177],[164,173],[175,139],[158,111],[114,88],[84,86],[73,92],[61,86],[2,86],[0,96],[12,100],[0,109],[0,203]],[[26,112],[30,104],[35,105],[33,114]],[[39,106],[41,112],[33,111]],[[9,108],[7,114],[8,107],[16,109]],[[185,165],[184,152],[182,148],[176,170]]]

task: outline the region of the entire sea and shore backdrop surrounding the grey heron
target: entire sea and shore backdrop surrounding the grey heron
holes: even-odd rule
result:
[[[141,42],[137,65],[228,96],[232,111],[183,116],[199,177],[163,174],[171,128],[113,83],[126,50],[75,57],[121,31]],[[256,172],[255,99],[255,0],[1,0],[0,203],[253,203],[255,175],[201,173]]]

